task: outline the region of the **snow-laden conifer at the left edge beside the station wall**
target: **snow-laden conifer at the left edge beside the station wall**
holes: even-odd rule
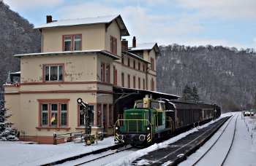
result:
[[[7,118],[12,114],[6,114],[7,108],[4,108],[4,100],[0,100],[0,141],[18,141],[15,133],[15,127],[13,122],[7,122]]]

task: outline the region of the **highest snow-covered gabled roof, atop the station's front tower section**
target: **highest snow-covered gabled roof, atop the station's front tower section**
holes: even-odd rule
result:
[[[108,15],[108,16],[102,16],[102,17],[88,17],[88,18],[78,18],[78,19],[69,19],[69,20],[53,20],[53,22],[43,23],[34,28],[42,29],[42,28],[56,28],[56,27],[65,27],[65,26],[110,24],[114,20],[116,20],[118,27],[121,29],[121,36],[129,36],[129,32],[127,30],[127,27],[124,25],[124,21],[121,18],[121,15]]]

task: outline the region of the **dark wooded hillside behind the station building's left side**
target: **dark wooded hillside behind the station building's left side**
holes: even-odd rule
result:
[[[41,51],[41,33],[34,25],[0,1],[0,92],[9,72],[20,71],[20,59],[13,55]],[[3,98],[3,94],[0,95]]]

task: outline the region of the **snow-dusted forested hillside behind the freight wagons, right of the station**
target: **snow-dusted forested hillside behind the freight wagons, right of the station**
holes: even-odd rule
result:
[[[256,54],[235,47],[160,47],[157,91],[182,95],[186,85],[197,87],[200,100],[217,103],[223,111],[252,108],[256,97]]]

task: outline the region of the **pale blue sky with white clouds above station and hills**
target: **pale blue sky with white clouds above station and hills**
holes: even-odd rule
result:
[[[53,20],[121,15],[137,43],[211,44],[256,50],[256,0],[0,0],[34,26]]]

